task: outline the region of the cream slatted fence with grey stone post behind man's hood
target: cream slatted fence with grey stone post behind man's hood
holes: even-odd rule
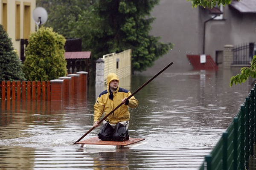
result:
[[[103,85],[109,73],[115,73],[119,79],[131,75],[131,49],[106,54],[96,61],[96,85]]]

